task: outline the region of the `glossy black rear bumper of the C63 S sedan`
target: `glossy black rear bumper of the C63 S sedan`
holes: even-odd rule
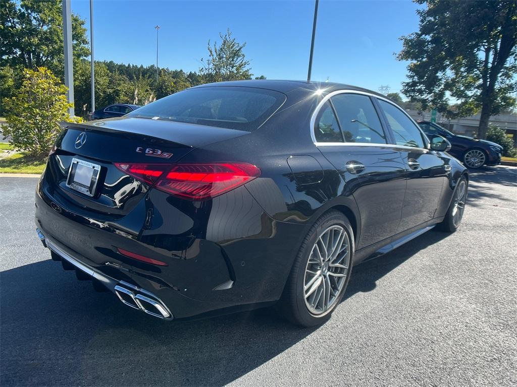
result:
[[[240,203],[252,200],[244,187],[231,193],[241,196]],[[239,203],[233,198],[224,200]],[[118,285],[133,292],[132,297],[142,294],[158,301],[171,314],[166,319],[253,309],[275,302],[307,231],[306,226],[270,218],[258,205],[243,214],[242,210],[214,204],[206,215],[212,229],[203,225],[202,218],[192,218],[192,227],[179,233],[175,229],[186,223],[180,223],[181,216],[188,214],[184,208],[179,212],[160,191],[149,195],[143,204],[143,209],[136,206],[125,217],[107,221],[102,214],[67,202],[43,178],[36,192],[36,227],[59,256],[115,294]],[[156,229],[132,233],[137,229],[134,225],[142,221],[140,215],[150,207],[157,219],[171,220],[156,221]],[[226,227],[216,228],[223,221]],[[178,247],[180,244],[186,247]],[[131,260],[117,253],[117,248],[167,266]]]

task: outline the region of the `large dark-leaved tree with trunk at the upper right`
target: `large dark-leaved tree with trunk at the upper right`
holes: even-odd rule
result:
[[[481,111],[479,137],[489,118],[515,104],[517,3],[515,0],[414,0],[419,31],[402,37],[399,60],[409,60],[402,92],[422,108],[448,117]],[[459,101],[448,109],[448,97]]]

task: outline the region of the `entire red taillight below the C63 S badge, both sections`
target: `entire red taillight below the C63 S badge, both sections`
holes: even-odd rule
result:
[[[122,164],[121,171],[171,195],[191,200],[214,198],[260,176],[260,169],[247,163]]]

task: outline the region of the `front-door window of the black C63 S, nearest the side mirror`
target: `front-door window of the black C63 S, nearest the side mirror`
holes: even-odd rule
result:
[[[419,128],[398,107],[378,100],[384,110],[388,123],[395,136],[397,145],[406,147],[423,148],[424,142]]]

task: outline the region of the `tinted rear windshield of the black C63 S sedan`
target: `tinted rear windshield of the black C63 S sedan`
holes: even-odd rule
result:
[[[189,122],[251,132],[284,102],[285,94],[251,87],[200,87],[142,106],[126,117]]]

